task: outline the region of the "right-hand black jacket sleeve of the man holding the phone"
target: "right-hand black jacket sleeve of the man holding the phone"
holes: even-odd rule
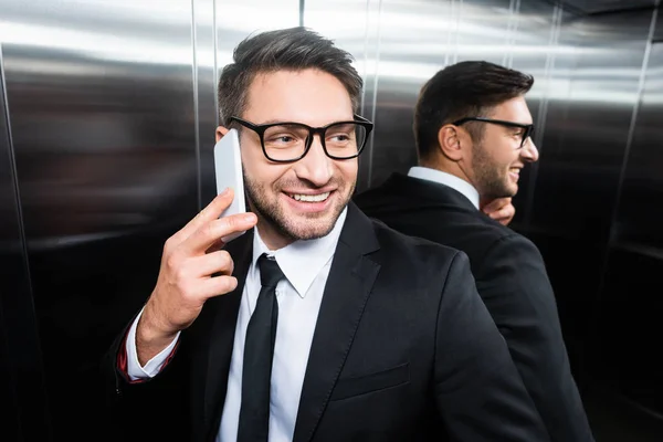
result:
[[[436,327],[435,398],[451,441],[549,441],[463,252],[449,266]]]

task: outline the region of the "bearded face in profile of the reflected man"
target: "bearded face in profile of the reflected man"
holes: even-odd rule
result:
[[[490,118],[532,124],[524,97],[516,97],[493,108]],[[472,148],[472,181],[483,198],[513,197],[518,191],[520,169],[538,159],[534,140],[528,138],[520,148],[523,128],[481,123],[483,137]]]

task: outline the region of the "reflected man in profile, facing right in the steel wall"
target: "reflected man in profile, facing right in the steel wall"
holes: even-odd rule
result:
[[[555,294],[537,248],[483,213],[538,159],[525,102],[534,78],[482,61],[438,72],[414,114],[419,166],[357,196],[387,225],[465,252],[483,298],[556,442],[592,441],[571,376]]]

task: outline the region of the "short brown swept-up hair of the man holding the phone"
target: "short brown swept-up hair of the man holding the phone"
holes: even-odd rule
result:
[[[241,116],[251,82],[259,73],[317,69],[338,78],[350,94],[352,112],[359,108],[364,82],[351,65],[352,55],[314,31],[297,27],[267,31],[244,39],[233,51],[233,61],[219,78],[219,116]]]

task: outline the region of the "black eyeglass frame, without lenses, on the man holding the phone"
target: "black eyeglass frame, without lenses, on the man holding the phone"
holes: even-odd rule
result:
[[[361,151],[366,147],[368,137],[373,129],[372,122],[370,122],[357,114],[354,114],[352,117],[355,118],[354,120],[334,122],[334,123],[329,123],[328,125],[323,126],[323,127],[312,127],[304,123],[296,123],[296,122],[277,122],[277,123],[269,123],[269,124],[264,124],[264,125],[256,125],[254,123],[248,122],[245,119],[242,119],[242,118],[235,117],[235,116],[228,118],[228,124],[230,125],[232,122],[236,122],[241,126],[246,127],[246,128],[253,130],[254,133],[256,133],[257,136],[260,137],[260,145],[262,147],[263,155],[265,156],[266,159],[269,159],[270,161],[273,161],[273,162],[296,162],[296,161],[301,160],[311,150],[311,146],[313,146],[313,138],[316,134],[318,134],[320,136],[320,145],[323,146],[323,150],[325,151],[325,155],[327,157],[335,159],[335,160],[345,160],[345,159],[357,158],[361,154]],[[327,129],[332,126],[336,126],[336,125],[340,125],[340,124],[357,124],[366,129],[366,138],[364,139],[364,144],[361,145],[361,147],[357,148],[356,154],[354,154],[352,156],[349,156],[349,157],[335,157],[327,151],[327,146],[325,145],[325,133],[327,131]],[[306,137],[306,147],[304,148],[304,152],[302,152],[302,155],[297,158],[273,159],[267,155],[267,149],[265,148],[265,140],[264,140],[265,131],[270,127],[285,126],[285,125],[297,125],[297,126],[302,126],[302,127],[305,127],[308,129],[308,136]]]

